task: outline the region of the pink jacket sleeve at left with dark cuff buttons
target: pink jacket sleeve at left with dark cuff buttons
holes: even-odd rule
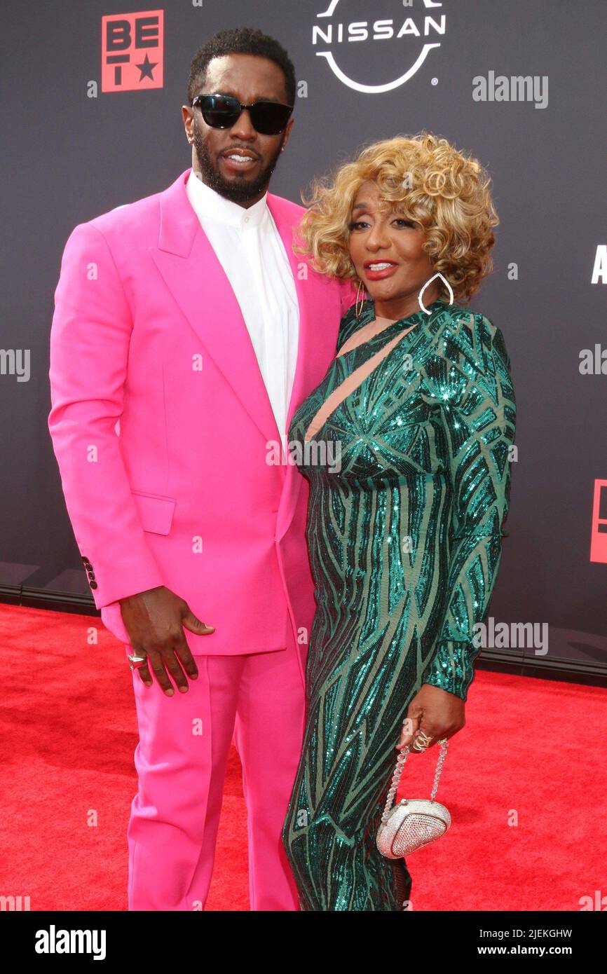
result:
[[[48,425],[76,543],[93,566],[97,609],[163,584],[115,430],[132,328],[105,238],[79,224],[65,244],[55,292]]]

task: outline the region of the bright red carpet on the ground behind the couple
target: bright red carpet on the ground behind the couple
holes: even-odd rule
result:
[[[33,911],[126,910],[137,737],[122,645],[98,618],[4,605],[0,645],[0,894]],[[607,892],[606,700],[477,672],[437,794],[453,825],[407,860],[414,910],[577,911]],[[407,760],[408,797],[430,797],[437,754]],[[245,813],[232,748],[208,910],[248,910],[235,807]]]

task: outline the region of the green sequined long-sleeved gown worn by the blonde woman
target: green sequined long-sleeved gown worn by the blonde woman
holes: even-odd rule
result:
[[[424,683],[466,699],[474,624],[487,613],[507,534],[515,400],[504,337],[461,305],[429,310],[334,358],[288,432],[310,482],[317,603],[283,829],[305,911],[397,911],[409,897],[406,863],[375,846],[400,726]],[[372,301],[360,318],[351,308],[337,350],[374,318]],[[306,452],[328,395],[412,324],[312,437],[338,442],[339,461]]]

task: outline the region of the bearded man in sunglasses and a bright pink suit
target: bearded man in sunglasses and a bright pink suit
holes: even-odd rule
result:
[[[281,831],[314,583],[286,431],[354,295],[293,253],[303,208],[268,192],[294,98],[278,42],[216,35],[182,107],[192,169],[79,224],[61,262],[49,429],[95,606],[133,668],[130,910],[204,909],[233,734],[251,909],[298,909]]]

